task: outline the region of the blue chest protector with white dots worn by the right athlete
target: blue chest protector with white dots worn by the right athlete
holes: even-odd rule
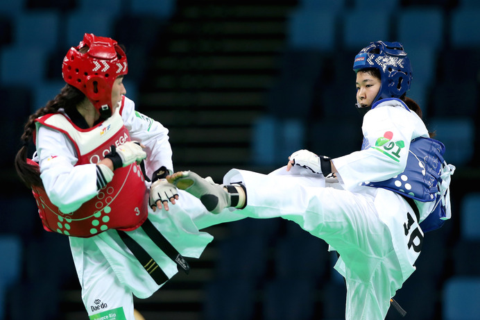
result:
[[[362,150],[370,146],[363,140]],[[445,146],[427,137],[411,141],[406,167],[402,174],[379,182],[366,182],[368,187],[381,187],[404,197],[421,202],[436,201],[434,210],[420,223],[424,232],[440,228],[451,216],[449,208],[449,182],[455,169],[443,159]],[[411,201],[413,203],[413,201]]]

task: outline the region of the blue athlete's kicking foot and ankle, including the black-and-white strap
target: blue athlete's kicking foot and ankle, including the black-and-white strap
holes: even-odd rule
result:
[[[211,178],[202,178],[192,171],[176,172],[167,176],[166,180],[196,196],[212,213],[228,207],[244,208],[246,205],[245,187],[241,184],[216,185]]]

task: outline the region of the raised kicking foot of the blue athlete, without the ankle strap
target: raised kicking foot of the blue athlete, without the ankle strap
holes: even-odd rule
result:
[[[230,207],[230,194],[227,190],[221,185],[216,185],[211,179],[207,180],[198,176],[195,172],[175,172],[175,174],[167,176],[166,180],[173,183],[178,189],[196,196],[209,212],[218,213]]]

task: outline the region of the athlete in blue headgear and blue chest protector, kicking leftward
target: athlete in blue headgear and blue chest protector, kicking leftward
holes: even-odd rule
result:
[[[364,114],[360,151],[330,159],[300,150],[268,175],[232,169],[224,185],[191,171],[167,180],[211,212],[235,207],[245,217],[282,217],[324,239],[339,253],[345,319],[380,320],[415,271],[424,233],[450,217],[454,166],[443,160],[445,147],[429,137],[420,108],[406,97],[413,76],[402,44],[370,43],[353,69]]]

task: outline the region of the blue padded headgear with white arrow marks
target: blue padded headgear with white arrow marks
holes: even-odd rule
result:
[[[372,104],[380,99],[400,98],[410,89],[413,78],[410,59],[400,42],[370,42],[368,47],[361,49],[355,56],[353,62],[355,72],[366,68],[380,71],[380,90]],[[357,105],[362,114],[370,108],[360,108]]]

